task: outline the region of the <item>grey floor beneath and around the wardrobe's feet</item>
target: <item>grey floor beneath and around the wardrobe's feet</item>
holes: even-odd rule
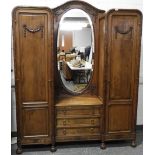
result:
[[[51,153],[50,146],[33,146],[23,149],[22,155],[143,155],[143,134],[137,132],[137,147],[130,146],[129,141],[108,142],[106,149],[100,149],[100,142],[79,142],[57,144],[57,151]],[[12,144],[11,154],[16,154],[16,144]]]

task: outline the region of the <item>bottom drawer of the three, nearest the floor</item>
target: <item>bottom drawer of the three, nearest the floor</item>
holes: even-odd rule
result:
[[[97,127],[92,128],[64,128],[57,129],[57,137],[62,136],[86,136],[86,135],[99,135],[100,130]]]

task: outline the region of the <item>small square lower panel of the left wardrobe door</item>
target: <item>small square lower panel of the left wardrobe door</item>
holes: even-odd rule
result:
[[[23,137],[48,137],[48,108],[24,108]]]

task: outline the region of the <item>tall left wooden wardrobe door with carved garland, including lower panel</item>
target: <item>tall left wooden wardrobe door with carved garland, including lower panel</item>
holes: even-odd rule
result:
[[[18,146],[51,143],[52,24],[48,8],[13,11]]]

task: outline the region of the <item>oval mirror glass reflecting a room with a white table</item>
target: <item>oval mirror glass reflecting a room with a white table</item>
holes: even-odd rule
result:
[[[58,71],[63,85],[80,93],[89,84],[93,71],[94,36],[90,17],[80,9],[65,13],[59,23]]]

